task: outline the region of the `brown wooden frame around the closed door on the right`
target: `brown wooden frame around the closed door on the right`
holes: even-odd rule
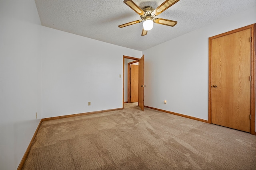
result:
[[[232,33],[236,33],[239,31],[243,31],[245,29],[251,29],[251,76],[252,76],[252,81],[251,81],[251,120],[250,120],[250,134],[256,135],[255,133],[255,97],[256,97],[256,90],[255,90],[255,29],[256,29],[256,24],[248,25],[242,28],[238,28],[232,31],[228,31],[226,33],[222,33],[213,37],[209,38],[209,84],[208,84],[208,91],[209,91],[209,98],[208,98],[208,123],[212,123],[212,39],[216,39],[225,35],[229,35]],[[249,40],[248,40],[249,41]]]

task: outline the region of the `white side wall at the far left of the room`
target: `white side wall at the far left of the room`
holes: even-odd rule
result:
[[[41,23],[34,1],[0,4],[0,169],[14,170],[41,118]]]

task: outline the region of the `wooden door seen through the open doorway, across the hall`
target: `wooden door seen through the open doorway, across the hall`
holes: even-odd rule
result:
[[[131,73],[130,73],[130,82],[131,82],[131,95],[130,95],[130,102],[138,102],[139,100],[139,66],[131,64]]]

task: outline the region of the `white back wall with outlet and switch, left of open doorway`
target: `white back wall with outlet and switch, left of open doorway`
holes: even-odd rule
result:
[[[42,35],[43,117],[122,108],[123,55],[141,51],[48,27]]]

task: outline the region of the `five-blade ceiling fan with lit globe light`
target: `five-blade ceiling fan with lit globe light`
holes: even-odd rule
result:
[[[124,4],[128,5],[132,10],[134,10],[137,14],[140,15],[141,20],[136,20],[132,22],[128,22],[122,25],[118,25],[118,27],[126,27],[129,25],[133,25],[135,23],[140,23],[143,21],[143,29],[142,29],[142,36],[147,35],[148,30],[153,28],[153,23],[159,23],[162,25],[167,26],[175,26],[177,24],[177,21],[172,20],[166,20],[162,18],[155,18],[165,10],[167,10],[170,6],[174,5],[179,0],[166,0],[164,1],[160,6],[158,6],[156,9],[153,9],[152,6],[145,6],[142,9],[138,5],[136,5],[132,0],[124,0]]]

